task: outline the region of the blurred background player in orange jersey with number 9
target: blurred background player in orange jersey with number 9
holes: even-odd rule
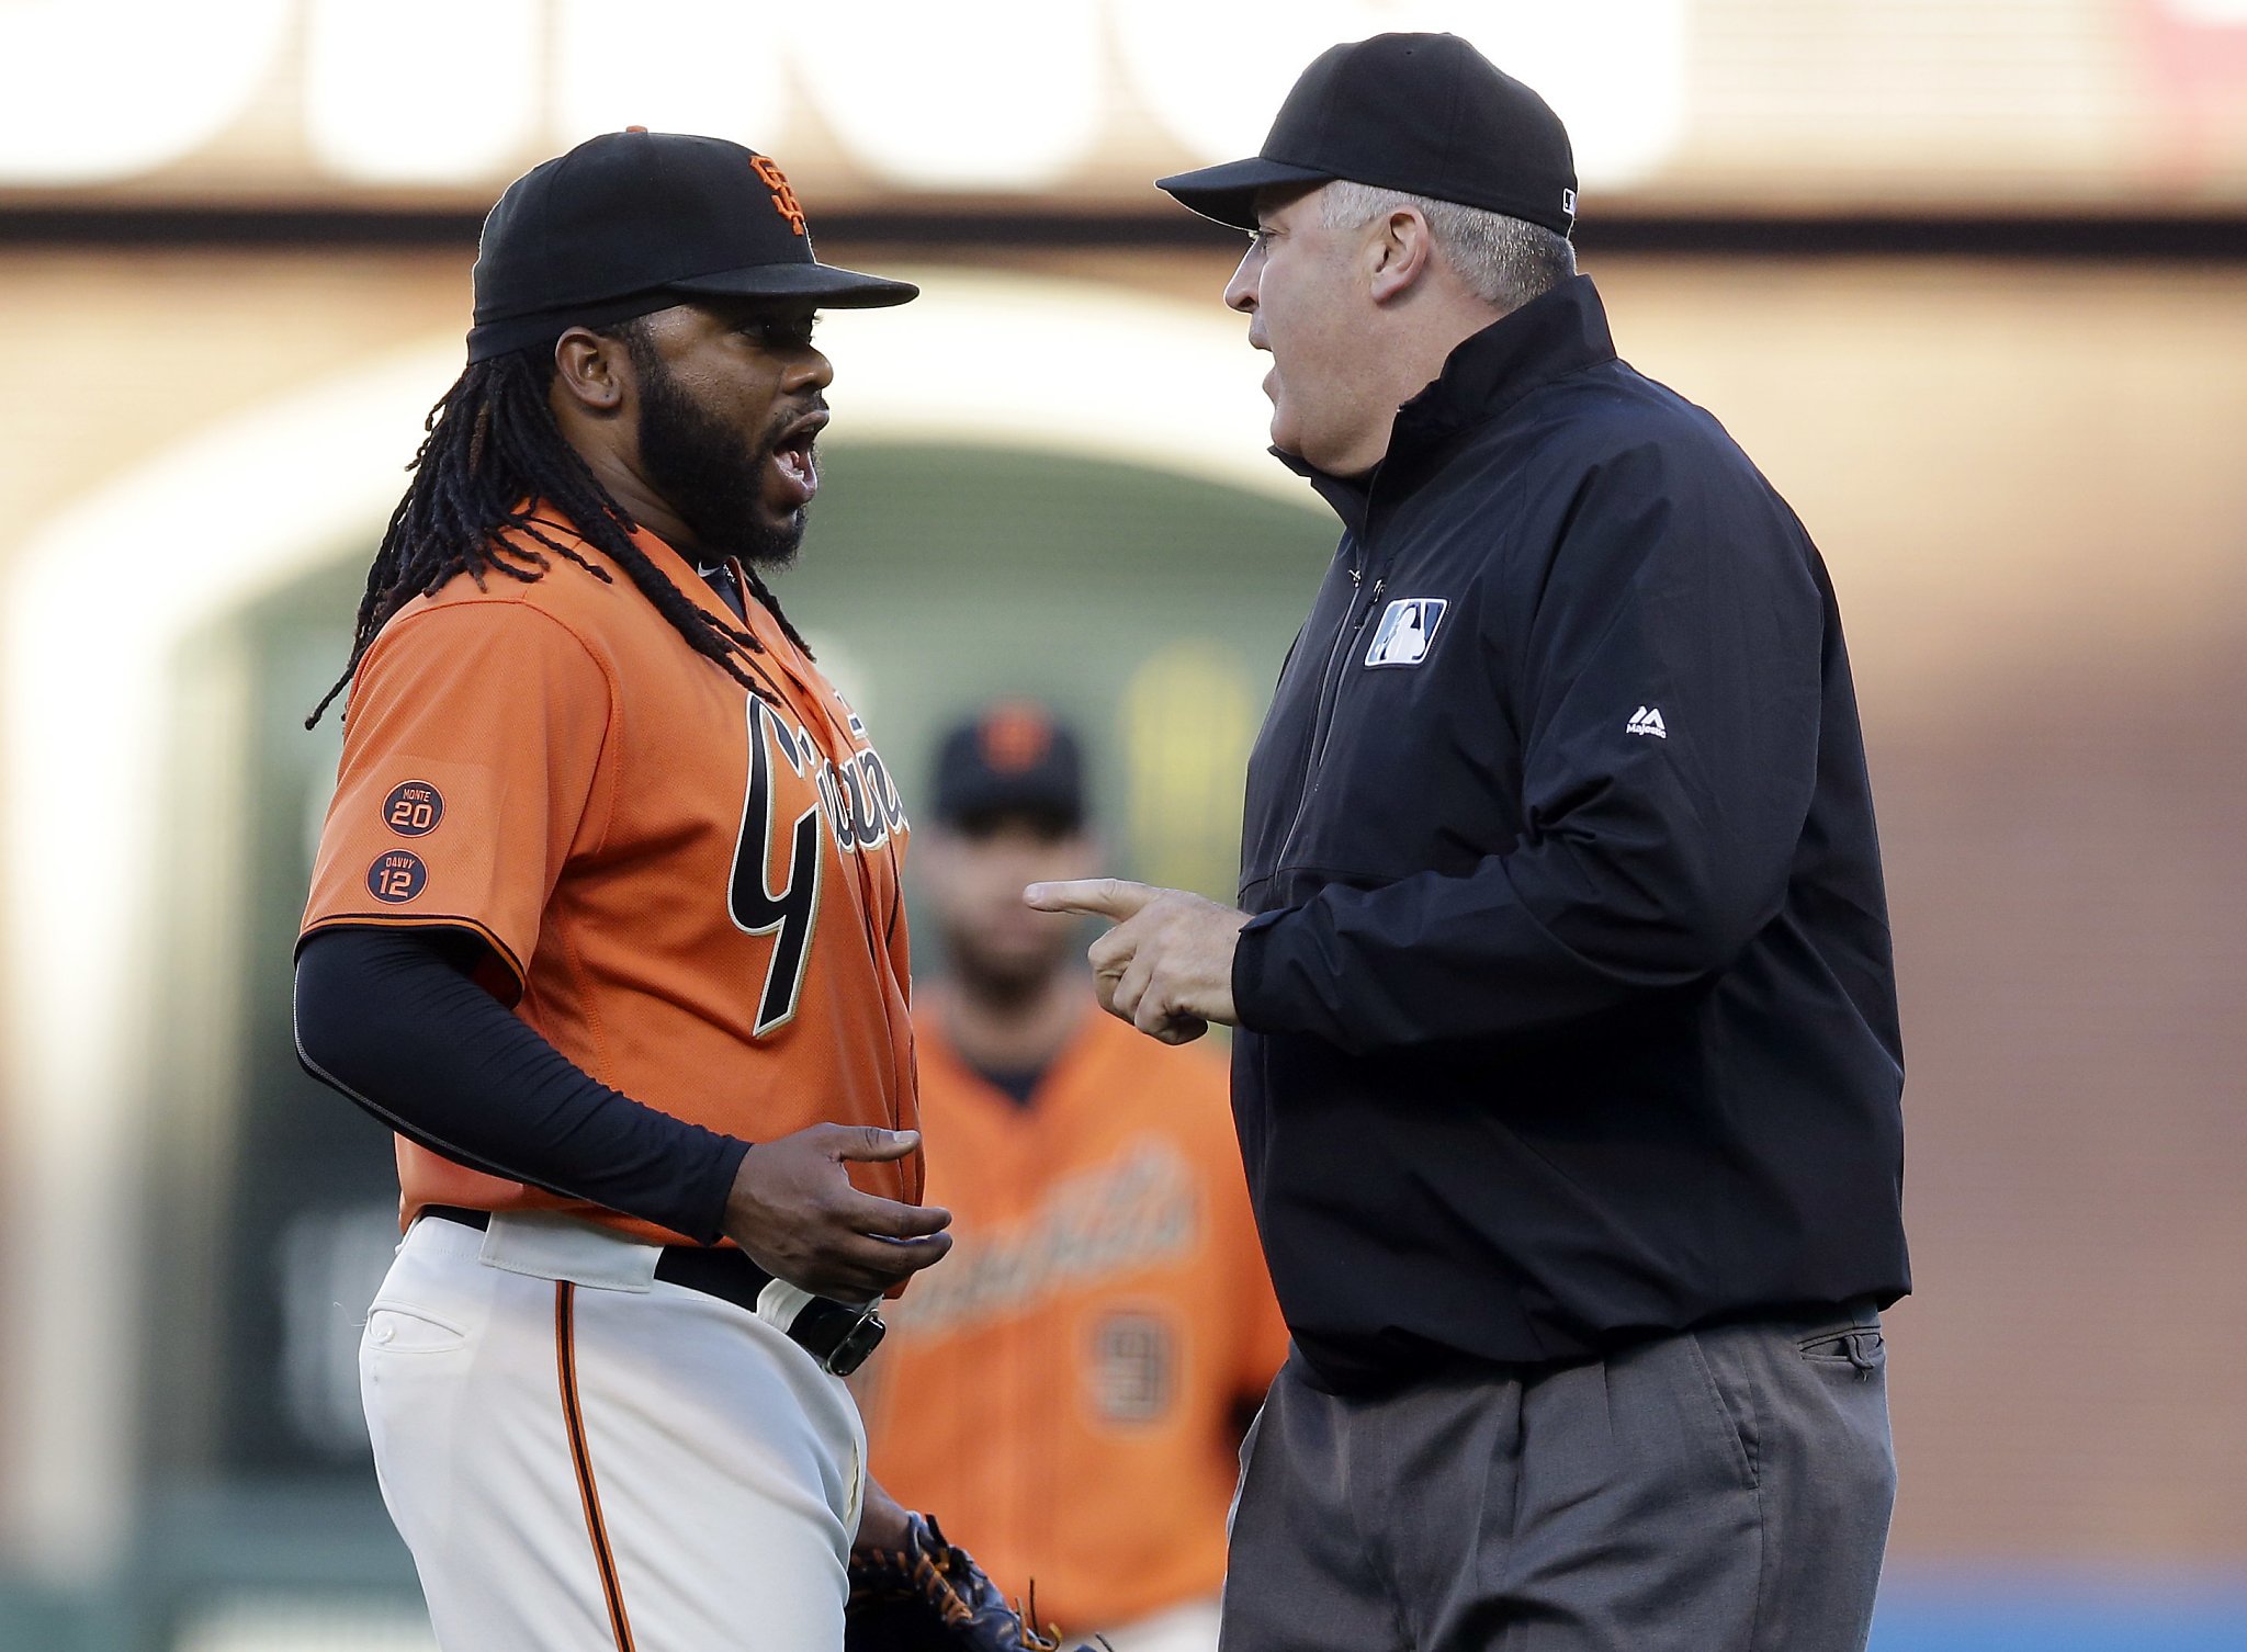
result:
[[[957,1247],[861,1373],[870,1461],[1063,1623],[1209,1652],[1240,1429],[1288,1335],[1225,1065],[1101,1016],[1076,940],[1022,904],[1097,854],[1043,710],[941,742],[915,872],[948,975],[915,1025]]]

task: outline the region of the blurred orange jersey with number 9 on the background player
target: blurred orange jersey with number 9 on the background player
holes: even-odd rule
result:
[[[1022,1108],[926,1007],[919,1050],[957,1243],[861,1371],[867,1465],[1072,1632],[1213,1594],[1288,1353],[1225,1065],[1094,1009]]]

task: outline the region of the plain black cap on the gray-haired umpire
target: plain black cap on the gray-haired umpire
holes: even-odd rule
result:
[[[1503,211],[1566,236],[1575,155],[1559,115],[1456,34],[1375,34],[1321,52],[1249,160],[1157,178],[1182,205],[1256,227],[1256,191],[1348,178]]]

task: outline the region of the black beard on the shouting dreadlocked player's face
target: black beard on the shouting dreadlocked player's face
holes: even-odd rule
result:
[[[708,557],[739,557],[753,569],[795,562],[807,508],[768,521],[764,468],[780,434],[809,409],[775,411],[755,450],[744,454],[739,432],[681,389],[654,348],[640,339],[631,339],[629,348],[640,378],[640,468],[663,503],[694,530],[697,548]]]

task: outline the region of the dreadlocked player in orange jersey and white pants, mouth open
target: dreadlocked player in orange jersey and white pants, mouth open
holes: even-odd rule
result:
[[[910,297],[719,139],[598,137],[485,223],[297,962],[306,1065],[398,1131],[362,1389],[447,1652],[836,1652],[876,1596],[1025,1643],[865,1479],[843,1376],[950,1245],[908,820],[759,575],[818,490],[813,308]]]

